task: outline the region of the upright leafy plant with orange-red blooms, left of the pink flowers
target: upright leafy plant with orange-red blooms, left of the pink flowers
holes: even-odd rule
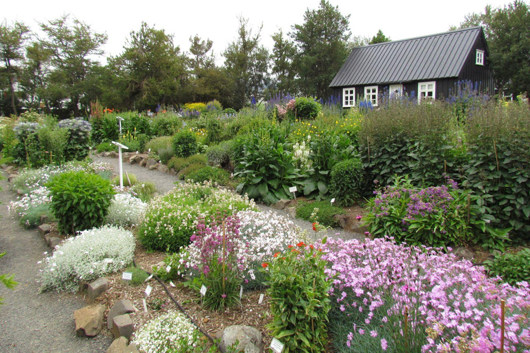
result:
[[[300,242],[274,256],[263,264],[268,269],[271,335],[284,343],[286,353],[325,352],[331,283],[322,251]]]

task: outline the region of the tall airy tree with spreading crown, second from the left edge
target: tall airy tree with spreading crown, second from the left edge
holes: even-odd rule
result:
[[[81,103],[85,108],[90,103],[90,99],[81,102],[85,98],[84,81],[95,65],[99,65],[92,58],[104,53],[101,46],[106,43],[107,35],[92,32],[90,26],[78,19],[70,21],[68,14],[39,26],[46,34],[41,46],[51,53],[53,69],[48,92],[57,105],[61,99],[69,99],[68,110],[78,116]]]

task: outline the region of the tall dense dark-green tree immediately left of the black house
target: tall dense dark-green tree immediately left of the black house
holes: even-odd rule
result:
[[[293,26],[291,37],[297,46],[293,64],[304,94],[331,94],[328,85],[349,54],[349,17],[343,16],[338,6],[321,0],[318,10],[306,10],[302,25]]]

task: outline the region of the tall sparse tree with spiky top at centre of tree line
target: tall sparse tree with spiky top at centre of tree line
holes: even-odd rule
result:
[[[242,108],[252,97],[258,99],[268,83],[268,51],[259,45],[262,26],[256,34],[248,28],[248,19],[238,17],[238,37],[223,53],[224,65],[235,84],[233,108]]]

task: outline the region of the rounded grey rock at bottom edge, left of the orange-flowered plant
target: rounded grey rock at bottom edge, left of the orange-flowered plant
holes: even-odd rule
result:
[[[229,326],[218,332],[216,338],[219,339],[219,347],[224,350],[230,347],[230,345],[233,345],[235,341],[239,341],[236,347],[237,352],[263,352],[262,334],[254,327],[242,325]]]

